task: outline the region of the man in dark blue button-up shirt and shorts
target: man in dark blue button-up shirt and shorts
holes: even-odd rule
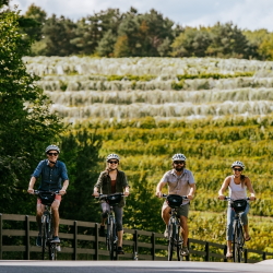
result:
[[[52,216],[54,216],[54,242],[60,242],[59,239],[59,206],[61,202],[61,195],[67,193],[67,189],[69,186],[69,177],[66,164],[63,162],[58,161],[60,153],[60,149],[56,145],[49,145],[46,149],[47,159],[39,162],[38,166],[34,170],[27,192],[34,193],[34,185],[37,178],[40,177],[39,191],[59,191],[60,195],[55,197],[55,201],[51,204]],[[41,246],[41,215],[44,213],[45,205],[41,204],[41,200],[37,199],[37,214],[36,219],[39,227],[39,234],[36,240],[37,246]]]

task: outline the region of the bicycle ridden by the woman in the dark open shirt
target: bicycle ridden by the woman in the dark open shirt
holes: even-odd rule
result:
[[[121,197],[124,197],[123,193],[114,193],[114,194],[99,194],[99,200],[105,200],[109,206],[110,212],[107,216],[107,234],[106,234],[106,246],[107,250],[109,250],[110,260],[117,260],[118,258],[118,236],[117,236],[117,224],[116,217],[114,213],[114,206],[118,205]]]

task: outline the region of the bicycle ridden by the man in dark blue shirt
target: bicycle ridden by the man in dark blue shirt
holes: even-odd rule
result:
[[[35,190],[34,194],[38,195],[41,203],[45,205],[44,213],[41,215],[41,259],[45,260],[46,252],[48,251],[49,260],[57,260],[57,252],[60,251],[60,245],[52,241],[54,237],[54,224],[51,204],[55,200],[55,195],[59,192],[55,191],[38,191]]]

